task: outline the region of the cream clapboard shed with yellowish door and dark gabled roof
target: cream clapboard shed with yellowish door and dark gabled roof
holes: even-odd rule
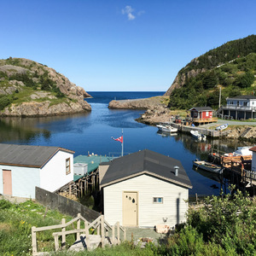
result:
[[[192,185],[181,162],[166,155],[145,149],[115,159],[100,187],[109,224],[173,227],[186,220]]]

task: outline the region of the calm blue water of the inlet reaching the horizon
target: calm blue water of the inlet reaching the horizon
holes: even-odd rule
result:
[[[108,102],[114,99],[162,96],[163,91],[88,93],[93,96],[86,99],[91,105],[91,113],[42,118],[1,118],[0,142],[68,148],[75,151],[74,156],[89,153],[119,156],[121,143],[111,137],[120,137],[123,131],[124,154],[148,148],[180,160],[193,185],[193,189],[189,189],[190,195],[219,194],[218,177],[196,172],[192,168],[192,160],[207,159],[211,148],[232,152],[236,149],[234,143],[218,140],[199,143],[182,133],[163,135],[155,126],[135,121],[143,110],[108,109]]]

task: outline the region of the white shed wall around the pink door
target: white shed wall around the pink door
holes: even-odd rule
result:
[[[12,172],[12,195],[35,198],[35,186],[40,185],[38,168],[22,166],[0,166],[0,194],[3,194],[3,170]]]

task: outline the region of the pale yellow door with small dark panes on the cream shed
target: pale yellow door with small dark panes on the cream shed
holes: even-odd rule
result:
[[[137,226],[137,192],[123,193],[123,225]]]

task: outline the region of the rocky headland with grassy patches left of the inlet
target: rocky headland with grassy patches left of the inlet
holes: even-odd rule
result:
[[[0,115],[45,116],[90,111],[90,95],[55,69],[35,61],[0,60]]]

